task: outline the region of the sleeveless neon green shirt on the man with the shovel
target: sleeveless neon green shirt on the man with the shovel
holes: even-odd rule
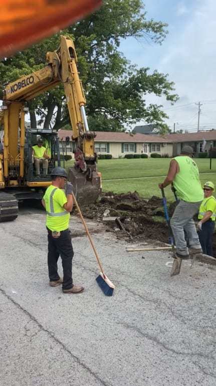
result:
[[[187,155],[173,159],[178,162],[179,172],[175,174],[173,185],[179,200],[197,203],[203,200],[203,190],[199,180],[199,170],[195,161]]]

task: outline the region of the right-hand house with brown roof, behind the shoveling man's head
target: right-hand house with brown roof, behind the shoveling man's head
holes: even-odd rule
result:
[[[216,147],[216,130],[185,134],[173,133],[164,138],[173,143],[173,156],[180,154],[183,145],[191,146],[195,155],[203,151],[208,152],[210,146]]]

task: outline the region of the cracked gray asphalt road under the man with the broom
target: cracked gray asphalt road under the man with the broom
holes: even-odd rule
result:
[[[170,278],[167,252],[128,253],[89,222],[116,285],[106,297],[72,217],[73,278],[85,292],[66,295],[48,285],[44,224],[44,212],[31,208],[0,224],[1,386],[215,386],[215,266],[190,270],[185,261]]]

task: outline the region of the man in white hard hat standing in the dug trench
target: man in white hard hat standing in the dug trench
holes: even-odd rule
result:
[[[214,191],[213,182],[205,182],[203,190],[204,200],[202,201],[199,208],[199,222],[196,226],[196,230],[198,232],[198,237],[203,253],[209,256],[213,256],[212,236],[214,233],[214,223],[216,217],[216,200],[212,196]]]

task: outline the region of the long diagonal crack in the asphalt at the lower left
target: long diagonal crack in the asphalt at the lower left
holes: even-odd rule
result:
[[[30,319],[31,321],[34,321],[36,323],[36,325],[39,327],[39,329],[41,331],[44,331],[45,333],[47,333],[51,339],[55,340],[55,342],[57,342],[80,366],[82,366],[86,371],[88,371],[95,379],[97,379],[102,385],[104,386],[111,386],[110,383],[107,383],[105,382],[102,378],[100,378],[99,375],[97,375],[94,371],[91,370],[91,368],[89,366],[87,366],[78,356],[76,356],[75,354],[73,354],[69,348],[66,347],[66,345],[60,340],[58,339],[54,333],[52,333],[51,331],[49,331],[48,329],[46,329],[37,319],[35,316],[33,316],[29,311],[27,311],[24,307],[22,307],[18,302],[16,302],[10,295],[8,295],[6,293],[6,291],[4,289],[2,289],[0,287],[0,292],[7,297],[8,300],[10,300],[16,307],[18,307],[22,312],[24,312]],[[30,321],[29,321],[30,322]],[[28,322],[28,323],[29,323]],[[28,323],[26,323],[25,325],[25,330],[26,330],[26,336],[29,336],[28,335],[28,331],[29,329],[27,328],[27,325]],[[38,331],[39,332],[39,331]],[[37,332],[37,333],[38,333]]]

